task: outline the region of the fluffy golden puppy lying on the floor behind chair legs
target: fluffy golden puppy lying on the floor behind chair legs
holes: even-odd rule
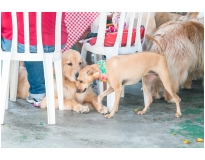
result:
[[[86,62],[81,57],[80,53],[75,50],[70,49],[62,54],[64,110],[87,113],[92,107],[94,107],[98,112],[106,114],[108,112],[107,107],[98,105],[97,95],[92,91],[91,87],[89,87],[83,94],[76,93],[79,84],[79,82],[76,81],[76,73],[78,73],[85,65]],[[21,69],[19,73],[18,97],[25,99],[29,89],[27,72],[25,69]],[[57,109],[59,108],[58,97],[56,87],[54,88],[55,108]],[[42,100],[40,107],[46,108],[46,97]]]

